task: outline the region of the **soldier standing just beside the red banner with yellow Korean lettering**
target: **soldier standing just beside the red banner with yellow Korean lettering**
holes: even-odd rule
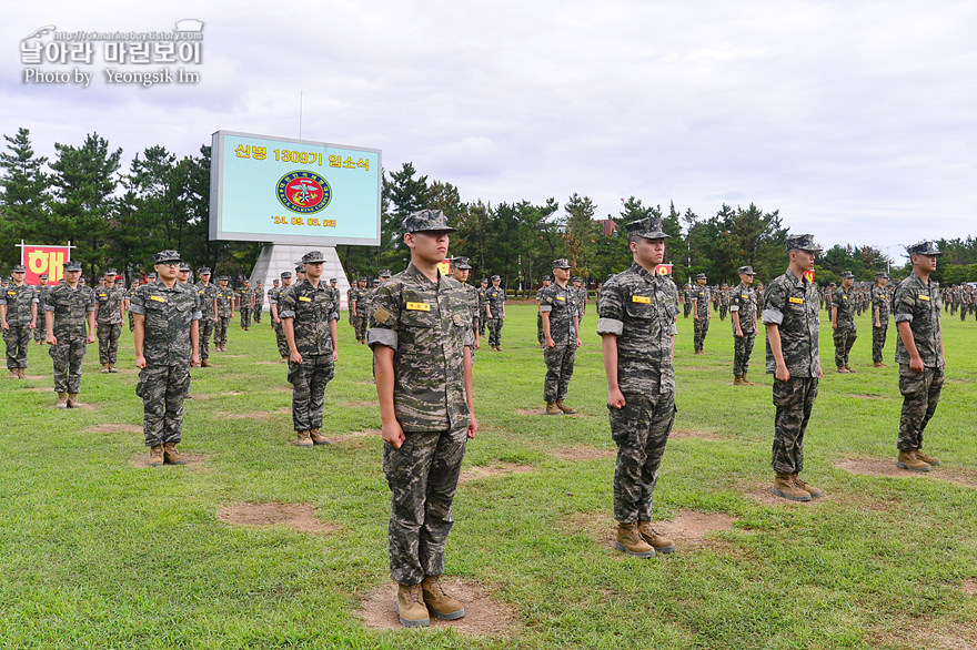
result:
[[[48,328],[48,354],[54,363],[54,392],[58,408],[81,406],[81,362],[85,345],[95,342],[95,295],[81,286],[81,263],[64,264],[64,284],[48,292],[44,321]],[[88,333],[85,333],[88,324]]]

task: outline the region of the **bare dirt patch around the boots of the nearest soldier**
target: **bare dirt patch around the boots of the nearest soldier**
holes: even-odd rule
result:
[[[516,630],[520,622],[513,616],[512,608],[498,602],[492,592],[474,580],[461,578],[442,579],[444,590],[457,598],[465,608],[465,616],[445,621],[431,617],[432,629],[452,628],[457,633],[471,637],[508,636]],[[374,630],[406,630],[396,613],[397,586],[393,582],[374,589],[360,602],[356,615],[363,623]],[[410,633],[415,633],[410,630]]]

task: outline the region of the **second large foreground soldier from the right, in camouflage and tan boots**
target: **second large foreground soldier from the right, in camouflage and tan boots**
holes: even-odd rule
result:
[[[795,235],[785,242],[790,260],[787,272],[767,287],[763,323],[767,328],[767,374],[774,375],[773,469],[774,494],[793,501],[809,501],[820,490],[804,483],[804,433],[817,397],[822,376],[817,351],[817,286],[805,275],[814,271],[820,247],[814,235]]]

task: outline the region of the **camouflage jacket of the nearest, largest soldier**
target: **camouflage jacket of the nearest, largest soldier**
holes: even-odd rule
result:
[[[392,347],[393,403],[405,433],[445,431],[470,424],[464,347],[473,333],[461,284],[431,282],[413,264],[376,290],[366,343]]]

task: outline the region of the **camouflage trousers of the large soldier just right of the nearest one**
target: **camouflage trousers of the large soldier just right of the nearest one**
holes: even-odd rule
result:
[[[675,393],[624,395],[624,407],[610,408],[611,438],[617,444],[614,468],[614,519],[652,520],[658,466],[675,422]]]

